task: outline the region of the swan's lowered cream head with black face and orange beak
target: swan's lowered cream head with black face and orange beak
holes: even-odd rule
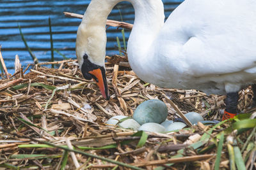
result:
[[[93,79],[104,99],[109,99],[105,70],[106,31],[82,22],[77,30],[76,56],[84,78]]]

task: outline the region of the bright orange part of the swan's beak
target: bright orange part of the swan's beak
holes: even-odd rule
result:
[[[93,80],[96,81],[102,96],[104,97],[104,99],[109,100],[109,91],[105,71],[102,71],[101,69],[93,69],[88,73],[95,76]]]

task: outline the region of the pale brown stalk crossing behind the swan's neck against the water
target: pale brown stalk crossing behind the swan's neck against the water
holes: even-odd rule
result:
[[[70,13],[70,12],[63,12],[64,15],[67,17],[72,17],[72,18],[83,18],[83,15],[77,14],[77,13]],[[107,20],[106,25],[112,26],[112,27],[122,27],[126,29],[132,29],[133,25],[129,24],[127,22],[119,22],[116,20]]]

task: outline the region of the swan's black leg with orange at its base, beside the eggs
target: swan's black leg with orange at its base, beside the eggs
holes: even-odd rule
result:
[[[226,120],[228,118],[233,118],[236,116],[238,97],[238,92],[227,93],[227,98],[225,99],[226,109],[224,111],[222,120]]]

